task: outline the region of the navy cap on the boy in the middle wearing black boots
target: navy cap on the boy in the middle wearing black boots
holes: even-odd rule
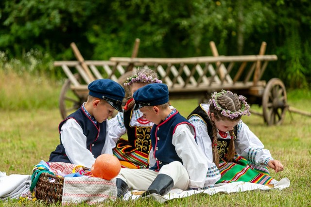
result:
[[[133,98],[134,110],[144,106],[158,106],[169,102],[169,89],[164,83],[152,83],[135,91]]]

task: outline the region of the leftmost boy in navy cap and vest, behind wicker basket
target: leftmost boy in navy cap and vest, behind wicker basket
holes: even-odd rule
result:
[[[49,162],[67,162],[92,167],[101,154],[112,154],[107,118],[116,109],[122,111],[123,87],[109,79],[88,85],[87,101],[58,126],[60,144]]]

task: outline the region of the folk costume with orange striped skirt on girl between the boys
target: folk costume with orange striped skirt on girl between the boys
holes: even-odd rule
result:
[[[108,121],[109,138],[116,156],[122,168],[147,168],[149,166],[148,156],[151,150],[150,132],[154,123],[142,118],[139,110],[129,109],[128,100],[124,112],[119,112]],[[127,133],[128,139],[120,138]]]

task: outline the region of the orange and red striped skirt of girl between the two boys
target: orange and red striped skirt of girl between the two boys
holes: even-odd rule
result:
[[[121,148],[115,147],[113,155],[120,160],[122,168],[147,168],[148,167],[148,154],[135,150],[129,153],[123,153]]]

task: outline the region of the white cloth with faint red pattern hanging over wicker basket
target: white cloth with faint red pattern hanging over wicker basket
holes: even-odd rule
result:
[[[62,205],[85,202],[99,204],[117,198],[116,178],[105,180],[98,177],[65,177]]]

